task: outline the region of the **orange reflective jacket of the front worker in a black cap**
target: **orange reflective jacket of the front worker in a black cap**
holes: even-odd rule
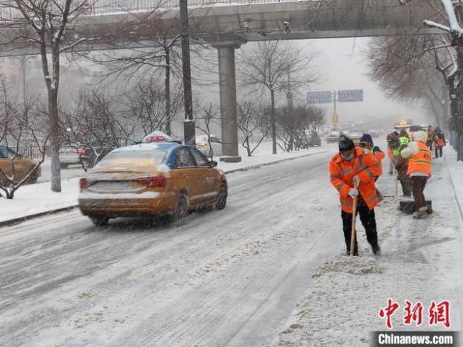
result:
[[[341,209],[347,213],[353,213],[353,199],[349,191],[353,188],[353,178],[360,178],[358,192],[362,196],[370,210],[378,205],[376,195],[375,176],[380,175],[380,161],[376,159],[368,149],[355,147],[354,157],[345,161],[340,154],[335,154],[330,161],[331,184],[339,192]]]

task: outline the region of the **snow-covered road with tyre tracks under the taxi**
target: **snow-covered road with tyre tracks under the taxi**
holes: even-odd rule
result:
[[[229,176],[180,228],[78,211],[0,232],[0,346],[262,346],[343,246],[330,154]]]

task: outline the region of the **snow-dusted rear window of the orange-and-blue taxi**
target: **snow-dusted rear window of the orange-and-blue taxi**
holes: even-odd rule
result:
[[[162,164],[166,151],[113,151],[103,158],[96,168],[123,167],[133,168],[137,166],[155,166]]]

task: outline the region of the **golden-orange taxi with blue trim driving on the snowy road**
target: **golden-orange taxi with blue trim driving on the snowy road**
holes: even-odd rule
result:
[[[111,151],[80,178],[79,208],[95,225],[110,218],[172,215],[182,220],[205,205],[227,204],[227,179],[192,146],[135,144]]]

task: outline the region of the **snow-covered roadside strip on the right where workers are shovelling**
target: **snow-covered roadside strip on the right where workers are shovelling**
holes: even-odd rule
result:
[[[433,176],[425,189],[435,210],[430,218],[415,220],[397,210],[396,198],[386,198],[375,209],[382,255],[371,254],[359,226],[360,257],[346,257],[339,250],[337,257],[307,274],[315,280],[309,289],[302,289],[305,297],[271,347],[369,346],[370,332],[387,330],[379,312],[388,299],[400,305],[392,315],[392,331],[462,329],[463,163],[456,162],[449,147],[444,156],[434,160]],[[379,182],[380,190],[393,196],[388,191],[392,177],[384,176]],[[333,228],[340,230],[342,238],[340,218],[333,220]],[[404,323],[405,300],[422,303],[421,326]],[[442,323],[430,324],[432,301],[445,300],[450,302],[450,329]]]

